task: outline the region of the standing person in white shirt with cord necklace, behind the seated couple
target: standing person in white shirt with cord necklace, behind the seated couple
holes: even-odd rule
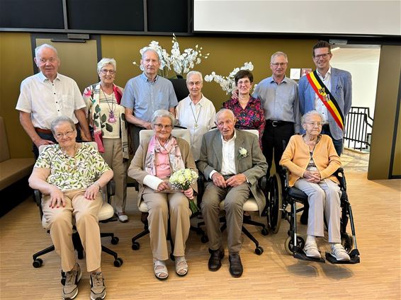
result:
[[[176,119],[180,126],[189,129],[193,158],[198,161],[203,134],[215,126],[216,109],[201,92],[203,80],[200,72],[189,71],[186,86],[189,95],[176,106]]]

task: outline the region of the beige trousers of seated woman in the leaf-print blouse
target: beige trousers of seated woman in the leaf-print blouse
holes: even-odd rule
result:
[[[72,217],[82,246],[86,253],[86,269],[92,272],[101,267],[101,238],[98,226],[98,212],[103,204],[99,192],[95,200],[86,200],[85,190],[64,192],[65,207],[49,207],[50,195],[43,195],[43,216],[49,225],[55,250],[61,258],[64,272],[72,270],[75,264],[74,245],[72,243]]]

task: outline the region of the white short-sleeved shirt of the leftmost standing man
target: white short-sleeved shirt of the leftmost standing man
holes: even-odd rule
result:
[[[74,110],[85,108],[77,83],[62,74],[51,82],[42,72],[21,82],[16,110],[30,113],[33,127],[50,129],[55,117],[66,115],[78,123]]]

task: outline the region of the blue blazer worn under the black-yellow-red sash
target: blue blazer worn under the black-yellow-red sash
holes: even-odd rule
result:
[[[349,73],[349,71],[344,71],[332,67],[331,83],[332,88],[330,93],[332,93],[334,98],[337,100],[339,108],[344,115],[345,123],[346,115],[348,115],[352,105],[351,74]],[[307,81],[306,76],[301,77],[300,82],[298,83],[298,93],[300,113],[303,115],[310,110],[315,110],[316,94],[312,86],[310,86],[309,81]],[[334,139],[343,139],[344,132],[337,125],[331,114],[329,114],[329,127],[330,133],[332,134]]]

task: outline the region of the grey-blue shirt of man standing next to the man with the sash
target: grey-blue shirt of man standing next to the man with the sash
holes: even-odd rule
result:
[[[298,85],[293,79],[284,77],[277,84],[270,76],[258,83],[252,96],[261,100],[266,120],[293,122],[295,133],[300,132]]]

